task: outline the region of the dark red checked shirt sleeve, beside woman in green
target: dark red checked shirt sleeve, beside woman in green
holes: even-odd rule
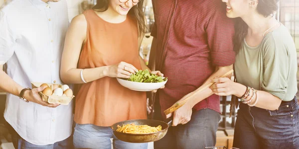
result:
[[[234,64],[234,22],[226,16],[224,5],[218,5],[211,14],[206,33],[213,66],[224,67]]]

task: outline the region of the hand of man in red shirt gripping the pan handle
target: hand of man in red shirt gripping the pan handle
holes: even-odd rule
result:
[[[184,98],[185,97],[183,97],[182,99]],[[180,99],[179,101],[181,101],[182,99]],[[179,101],[177,101],[176,103],[178,103]],[[173,112],[172,126],[177,126],[178,124],[184,125],[188,123],[191,120],[191,115],[192,115],[192,106],[187,101],[183,106],[181,106],[180,108],[178,108]],[[171,116],[172,113],[166,115],[166,118],[169,118]]]

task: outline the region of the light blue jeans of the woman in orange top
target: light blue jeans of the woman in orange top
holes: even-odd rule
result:
[[[92,124],[76,124],[74,132],[75,149],[148,149],[147,143],[127,143],[118,140],[110,127],[101,127]]]

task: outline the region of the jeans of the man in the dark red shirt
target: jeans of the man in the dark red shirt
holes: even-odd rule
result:
[[[155,106],[154,119],[163,120]],[[192,111],[191,120],[184,125],[170,126],[161,140],[154,142],[154,149],[204,149],[216,144],[216,131],[220,114],[211,109]]]

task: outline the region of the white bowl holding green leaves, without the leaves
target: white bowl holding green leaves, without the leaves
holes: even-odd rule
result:
[[[162,77],[163,79],[165,77]],[[162,86],[165,85],[167,82],[167,79],[162,82],[156,82],[156,83],[144,83],[144,82],[134,82],[134,81],[129,81],[121,78],[116,78],[117,81],[123,85],[124,87],[127,87],[131,90],[136,90],[136,91],[152,91],[155,89],[159,89]]]

